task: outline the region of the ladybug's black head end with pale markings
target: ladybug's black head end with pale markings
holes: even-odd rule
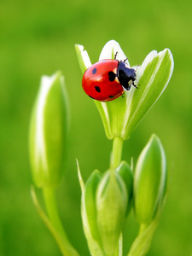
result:
[[[130,90],[131,85],[136,87],[134,84],[134,81],[137,79],[136,71],[134,68],[127,67],[124,61],[119,61],[117,76],[119,83],[125,90]]]

